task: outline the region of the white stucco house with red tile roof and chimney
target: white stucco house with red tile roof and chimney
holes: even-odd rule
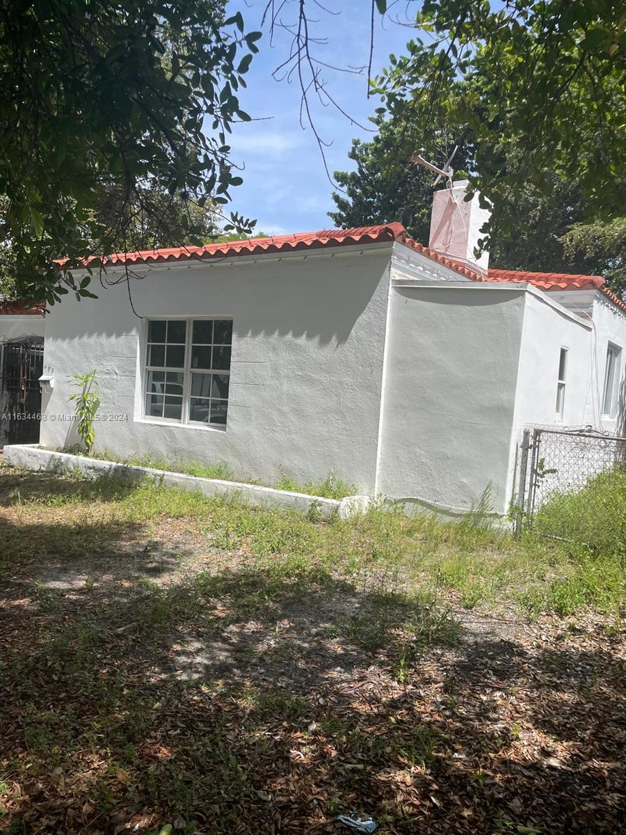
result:
[[[459,190],[436,193],[429,247],[391,223],[112,256],[98,301],[46,317],[41,443],[75,443],[55,416],[94,368],[96,451],[332,471],[452,512],[491,484],[505,513],[525,425],[622,427],[626,304],[600,276],[475,261]]]

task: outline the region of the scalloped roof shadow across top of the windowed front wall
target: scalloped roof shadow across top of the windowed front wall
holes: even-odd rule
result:
[[[235,334],[242,338],[278,335],[341,344],[370,304],[388,263],[375,256],[363,256],[356,264],[346,261],[342,257],[321,264],[280,263],[271,272],[270,265],[264,266],[256,275],[253,266],[245,272],[207,267],[206,275],[198,271],[199,280],[188,282],[187,276],[148,272],[144,281],[131,284],[133,305],[140,317],[232,316]],[[180,280],[173,295],[175,278]],[[121,337],[136,329],[139,320],[129,306],[125,285],[98,288],[98,296],[98,301],[70,299],[59,304],[60,316],[65,314],[54,327],[59,337]],[[122,303],[128,306],[128,318]]]

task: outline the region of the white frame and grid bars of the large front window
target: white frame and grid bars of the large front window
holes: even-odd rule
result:
[[[149,316],[145,320],[145,331],[144,331],[144,362],[141,374],[141,397],[142,397],[142,405],[141,405],[141,419],[145,423],[169,423],[172,426],[182,426],[182,427],[190,427],[195,429],[217,429],[219,432],[225,432],[226,426],[228,424],[228,415],[226,417],[226,423],[210,423],[208,421],[194,421],[191,420],[189,417],[189,412],[191,409],[191,379],[194,373],[197,374],[223,374],[229,377],[230,383],[230,368],[228,370],[225,369],[212,369],[212,368],[192,368],[191,367],[191,346],[193,342],[193,332],[194,332],[194,321],[233,321],[232,315],[224,315],[224,316]],[[185,342],[184,342],[184,367],[183,368],[170,368],[169,366],[152,366],[148,364],[149,360],[149,331],[150,331],[150,322],[151,321],[184,321],[187,323],[185,329]],[[160,343],[157,343],[160,344]],[[174,343],[176,344],[176,343]],[[182,344],[182,343],[181,343]],[[212,343],[215,344],[215,343]],[[167,353],[167,343],[165,351]],[[230,351],[231,351],[231,363],[232,363],[232,337],[230,341]],[[149,372],[172,372],[179,374],[180,372],[183,373],[183,407],[180,415],[180,420],[176,417],[154,417],[154,415],[149,415],[146,410],[146,398],[149,395],[147,391],[148,388],[148,373]],[[226,399],[227,404],[230,407],[230,384],[229,384],[229,396]]]

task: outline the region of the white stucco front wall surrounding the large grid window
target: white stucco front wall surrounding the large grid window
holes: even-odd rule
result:
[[[95,287],[98,301],[67,297],[47,323],[45,360],[55,387],[48,413],[71,412],[68,377],[96,368],[96,448],[126,455],[230,464],[271,482],[331,471],[370,493],[376,471],[382,353],[391,247],[306,259],[233,259],[216,266],[145,268],[131,280],[140,316],[225,316],[234,322],[225,431],[141,419],[139,349],[145,323],[122,281]],[[119,274],[118,274],[119,276]],[[109,276],[114,277],[114,274]],[[97,284],[97,282],[96,282]],[[41,443],[75,443],[68,423],[42,424]]]

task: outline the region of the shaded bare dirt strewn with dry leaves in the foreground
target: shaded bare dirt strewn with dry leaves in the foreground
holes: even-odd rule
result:
[[[397,600],[276,582],[184,519],[58,549],[0,574],[0,831],[622,830],[624,636],[599,616],[451,597],[407,634]]]

